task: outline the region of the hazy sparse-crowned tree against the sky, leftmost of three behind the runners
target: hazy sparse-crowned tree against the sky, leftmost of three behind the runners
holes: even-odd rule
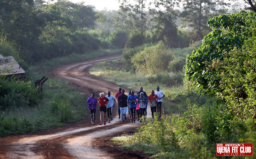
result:
[[[147,0],[118,0],[120,4],[121,18],[119,21],[124,22],[131,30],[139,30],[142,36],[147,29]]]

